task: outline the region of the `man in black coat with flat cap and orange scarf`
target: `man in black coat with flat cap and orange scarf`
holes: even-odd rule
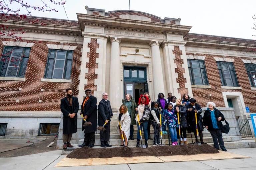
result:
[[[97,99],[91,95],[92,90],[85,90],[86,97],[81,106],[80,115],[83,115],[87,122],[91,122],[92,126],[82,127],[84,130],[84,143],[79,147],[93,147],[95,142],[95,131],[97,130]],[[84,120],[82,124],[84,124]]]

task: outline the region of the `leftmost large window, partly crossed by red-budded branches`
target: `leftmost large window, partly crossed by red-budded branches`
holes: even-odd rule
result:
[[[0,60],[0,76],[24,77],[30,48],[5,46]]]

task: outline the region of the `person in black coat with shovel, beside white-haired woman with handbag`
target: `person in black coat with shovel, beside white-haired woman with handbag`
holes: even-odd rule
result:
[[[197,130],[198,134],[200,137],[200,142],[201,144],[205,143],[203,142],[203,117],[201,115],[202,109],[199,104],[196,103],[196,99],[191,98],[190,99],[190,104],[186,105],[186,110],[187,110],[187,118],[188,118],[188,123],[189,123],[189,131],[193,131],[195,134],[196,138],[196,143],[199,143],[198,137],[196,134],[196,119],[197,119]],[[195,118],[196,114],[196,118]]]

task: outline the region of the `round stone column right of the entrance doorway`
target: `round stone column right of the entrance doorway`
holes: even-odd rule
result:
[[[152,70],[153,70],[153,84],[154,84],[154,101],[158,98],[158,93],[165,94],[164,90],[164,77],[163,77],[163,65],[161,65],[161,56],[158,41],[151,41],[152,50]]]

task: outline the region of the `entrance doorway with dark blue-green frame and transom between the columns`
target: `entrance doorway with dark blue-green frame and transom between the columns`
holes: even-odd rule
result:
[[[124,98],[127,93],[138,104],[140,95],[148,92],[146,67],[124,66]]]

